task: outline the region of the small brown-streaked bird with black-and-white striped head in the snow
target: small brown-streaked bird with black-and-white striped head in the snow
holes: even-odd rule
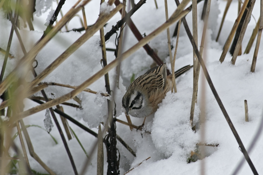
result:
[[[189,71],[192,67],[193,65],[187,65],[177,70],[174,72],[175,78]],[[162,102],[171,87],[172,75],[167,76],[166,63],[151,68],[136,78],[124,94],[122,104],[126,114],[138,118],[145,117],[146,119],[147,116],[157,111],[158,104]]]

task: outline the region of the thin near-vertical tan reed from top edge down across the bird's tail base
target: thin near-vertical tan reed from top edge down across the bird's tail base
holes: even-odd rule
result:
[[[165,19],[168,20],[168,7],[167,7],[167,0],[164,0],[164,6],[165,6]],[[171,37],[170,37],[170,29],[169,27],[166,29],[167,31],[167,40],[168,40],[168,50],[169,50],[169,57],[170,57],[170,63],[171,63],[171,70],[172,70],[172,74],[174,74],[174,67],[173,67],[173,60],[172,60],[172,48],[171,48]],[[172,84],[172,87],[171,87],[171,93],[173,93],[173,90],[174,92],[177,92],[177,89],[176,89],[176,83],[175,81],[173,81],[174,83]]]

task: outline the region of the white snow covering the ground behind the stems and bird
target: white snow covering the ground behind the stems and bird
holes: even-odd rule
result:
[[[152,32],[155,28],[165,21],[164,3],[157,1],[158,9],[155,9],[154,2],[147,1],[133,16],[132,20],[141,33],[146,35]],[[222,13],[225,8],[225,1],[212,1],[209,24],[207,30],[207,69],[213,84],[219,94],[230,119],[232,120],[244,146],[247,148],[252,140],[254,133],[258,127],[258,123],[262,117],[263,110],[263,45],[259,48],[256,71],[250,72],[255,42],[249,54],[238,56],[236,64],[230,63],[231,55],[226,55],[225,61],[221,64],[218,62],[222,48],[225,44],[226,38],[234,24],[237,15],[238,1],[233,1],[230,8],[234,9],[228,12],[226,21],[219,37],[219,42],[215,42],[217,30],[221,22]],[[88,4],[89,5],[89,4]],[[176,9],[173,0],[168,1],[169,14]],[[200,20],[203,9],[203,2],[198,4],[198,46],[201,42],[203,21]],[[220,12],[221,11],[221,12]],[[234,13],[234,12],[235,13]],[[99,11],[96,11],[98,14]],[[86,12],[87,14],[87,12]],[[259,16],[259,1],[256,2],[252,14],[257,18]],[[143,17],[142,17],[143,16]],[[186,20],[189,28],[192,28],[192,13],[190,12]],[[47,17],[45,17],[46,19]],[[45,20],[44,19],[44,20]],[[105,27],[105,32],[111,29],[112,25],[120,19],[120,15],[109,21]],[[0,47],[6,48],[9,37],[11,24],[4,18],[1,12],[1,32],[0,32]],[[243,48],[245,49],[247,42],[251,36],[252,30],[255,26],[255,21],[251,19],[247,27],[247,32],[243,40]],[[171,26],[171,36],[173,34],[175,24]],[[128,29],[124,50],[133,46],[137,40]],[[27,51],[32,47],[32,43],[36,42],[41,36],[42,32],[20,30],[23,37]],[[36,68],[39,74],[43,68],[46,68],[54,59],[56,59],[70,44],[72,44],[81,34],[79,33],[58,33],[38,54],[38,67]],[[115,36],[115,35],[114,35]],[[111,37],[106,43],[107,47],[114,47],[115,37]],[[172,45],[175,46],[176,38],[172,39]],[[64,63],[62,63],[54,72],[52,72],[44,81],[57,82],[69,85],[79,85],[87,80],[94,73],[99,71],[102,67],[100,64],[101,49],[99,46],[100,37],[93,36],[89,39],[77,52],[71,55]],[[158,55],[164,62],[167,62],[167,67],[170,69],[169,57],[167,56],[167,36],[166,31],[157,36],[154,40],[149,42],[149,45],[158,52]],[[173,50],[174,51],[174,50]],[[21,58],[22,51],[19,42],[14,35],[10,53],[16,58]],[[185,33],[183,25],[181,25],[179,46],[176,56],[175,69],[179,69],[187,64],[193,63],[193,50],[189,39]],[[0,54],[0,61],[3,62],[4,55]],[[112,52],[107,52],[108,62],[114,59]],[[10,72],[16,64],[16,59],[8,59],[7,72]],[[126,117],[121,113],[121,99],[125,93],[123,84],[127,84],[132,74],[136,77],[143,74],[149,66],[153,63],[152,59],[146,54],[145,50],[139,49],[136,53],[131,55],[128,59],[122,62],[122,78],[120,78],[120,89],[115,92],[115,103],[117,104],[117,116],[120,120],[126,120]],[[200,72],[202,75],[203,72]],[[110,85],[113,87],[113,79],[116,75],[115,69],[109,72]],[[29,77],[29,80],[32,77]],[[194,124],[197,125],[197,132],[194,133],[189,124],[189,114],[192,99],[192,85],[193,84],[193,70],[185,73],[176,80],[177,93],[167,93],[163,102],[159,105],[157,112],[146,119],[145,129],[151,134],[136,131],[130,131],[129,127],[117,123],[117,134],[136,151],[136,158],[133,157],[119,142],[117,147],[121,154],[120,170],[123,174],[128,169],[133,168],[148,157],[149,160],[143,162],[139,167],[133,169],[129,174],[132,175],[154,175],[154,174],[198,174],[200,172],[200,161],[187,164],[187,159],[191,151],[195,151],[196,143],[200,142],[198,125],[199,117],[199,98],[195,107]],[[200,84],[200,82],[199,82]],[[105,92],[104,77],[90,85],[88,88],[97,92]],[[46,89],[49,98],[57,98],[65,93],[70,92],[71,89],[65,87],[49,86]],[[51,94],[52,93],[52,94]],[[200,90],[198,97],[200,97]],[[40,95],[40,94],[37,94]],[[107,117],[107,101],[106,98],[101,98],[97,94],[90,94],[82,92],[78,95],[82,100],[82,110],[76,110],[72,107],[64,107],[67,114],[74,117],[83,125],[89,126],[95,132],[99,122],[105,122]],[[248,102],[249,122],[245,122],[244,115],[244,100]],[[71,103],[76,103],[70,100]],[[25,100],[25,109],[36,106],[30,100]],[[58,117],[58,115],[57,115]],[[239,163],[243,154],[238,149],[238,144],[232,134],[225,117],[223,116],[208,84],[206,83],[206,143],[219,144],[219,147],[212,148],[211,154],[206,157],[205,170],[207,174],[230,174],[235,166]],[[25,118],[26,124],[40,125],[44,128],[43,120],[45,118],[45,111],[38,112],[32,116]],[[134,125],[141,125],[143,119],[131,117]],[[92,135],[84,132],[76,125],[69,122],[69,125],[77,134],[82,145],[89,153],[93,143],[96,141]],[[64,145],[61,141],[60,135],[56,127],[52,128],[50,132],[58,141],[56,145],[47,132],[36,128],[28,128],[31,137],[34,151],[57,174],[73,174],[73,169],[70,165],[68,156],[66,154]],[[15,132],[15,131],[14,131]],[[19,146],[19,138],[16,138],[16,143]],[[81,171],[83,162],[86,156],[75,138],[68,141],[70,151],[73,155],[78,172]],[[263,137],[259,138],[256,146],[249,154],[259,174],[263,173],[262,156],[263,156]],[[104,147],[104,174],[107,171],[106,152]],[[11,152],[12,154],[12,152]],[[38,172],[45,173],[45,170],[29,156],[29,162],[32,169]],[[91,164],[88,167],[86,174],[96,174],[96,153],[93,155]],[[252,174],[247,163],[245,163],[239,174]]]

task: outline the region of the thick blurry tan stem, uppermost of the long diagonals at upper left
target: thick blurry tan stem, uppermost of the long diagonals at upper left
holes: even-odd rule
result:
[[[28,53],[25,55],[20,61],[18,62],[17,66],[14,70],[7,76],[7,78],[2,81],[0,84],[0,94],[2,94],[7,87],[15,80],[16,75],[20,74],[20,68],[25,67],[35,56],[38,52],[51,40],[52,37],[56,35],[56,33],[68,22],[68,20],[74,16],[78,11],[82,9],[84,5],[86,5],[91,0],[84,0],[78,7],[71,8],[66,15],[64,15],[61,20],[51,29],[51,31],[40,41],[38,42]]]

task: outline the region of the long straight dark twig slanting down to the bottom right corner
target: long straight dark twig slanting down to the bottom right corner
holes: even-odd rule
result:
[[[178,0],[175,0],[175,1],[176,1],[176,5],[178,6],[180,4],[180,2]],[[191,44],[192,44],[192,46],[194,48],[194,51],[195,51],[196,55],[197,55],[197,58],[198,58],[201,66],[203,68],[204,75],[205,75],[205,77],[207,79],[207,82],[208,82],[208,84],[209,84],[209,86],[210,86],[210,88],[212,90],[212,93],[214,94],[214,96],[216,98],[216,101],[217,101],[219,107],[221,108],[221,111],[223,112],[223,114],[225,116],[225,119],[226,119],[228,125],[230,126],[230,129],[232,130],[232,132],[233,132],[233,134],[234,134],[234,136],[235,136],[235,138],[236,138],[236,140],[238,142],[238,145],[239,145],[242,153],[244,154],[244,157],[246,158],[247,163],[249,164],[252,172],[254,174],[258,174],[257,171],[256,171],[255,166],[253,165],[252,161],[249,158],[249,155],[247,154],[247,151],[246,151],[246,149],[245,149],[245,147],[244,147],[244,145],[243,145],[243,143],[242,143],[242,141],[241,141],[241,139],[240,139],[240,137],[239,137],[239,135],[238,135],[233,123],[232,123],[232,121],[230,120],[230,117],[229,117],[228,113],[225,110],[225,107],[224,107],[221,99],[219,98],[219,95],[216,92],[215,86],[213,85],[212,80],[211,80],[211,78],[210,78],[210,76],[208,74],[207,68],[206,68],[206,66],[204,64],[204,61],[203,61],[203,58],[202,58],[202,56],[200,55],[200,53],[198,51],[198,47],[197,47],[197,45],[194,42],[194,38],[193,38],[193,36],[192,36],[192,34],[190,32],[190,29],[189,29],[188,24],[187,24],[187,22],[185,20],[185,17],[182,18],[182,21],[183,21],[183,24],[185,26],[185,31],[186,31],[186,33],[187,33],[187,35],[189,37],[189,40],[190,40],[190,42],[191,42]]]

